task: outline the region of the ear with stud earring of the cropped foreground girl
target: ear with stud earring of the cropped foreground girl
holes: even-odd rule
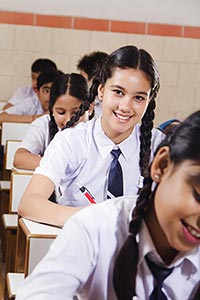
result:
[[[151,165],[151,178],[160,182],[162,175],[167,171],[170,164],[169,147],[164,146],[158,150]]]

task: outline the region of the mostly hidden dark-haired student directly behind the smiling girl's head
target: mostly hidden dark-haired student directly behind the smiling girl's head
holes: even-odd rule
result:
[[[77,69],[88,81],[89,86],[92,84],[92,79],[101,69],[108,54],[101,51],[94,51],[81,57],[77,64]],[[101,115],[102,107],[101,101],[96,97],[95,99],[95,116]]]

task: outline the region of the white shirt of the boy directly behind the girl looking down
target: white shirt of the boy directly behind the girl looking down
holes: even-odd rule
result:
[[[4,112],[12,115],[40,115],[44,113],[42,105],[38,98],[25,98],[18,104],[4,110]]]

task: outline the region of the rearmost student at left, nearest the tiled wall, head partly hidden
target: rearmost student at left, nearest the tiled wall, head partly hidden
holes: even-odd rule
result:
[[[13,96],[4,105],[3,110],[20,103],[25,98],[32,98],[33,100],[38,99],[37,78],[41,72],[49,68],[57,69],[55,62],[48,58],[39,58],[35,60],[31,66],[31,86],[18,88]]]

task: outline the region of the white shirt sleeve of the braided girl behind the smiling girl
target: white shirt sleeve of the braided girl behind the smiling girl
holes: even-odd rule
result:
[[[49,144],[49,121],[49,115],[44,115],[33,121],[20,148],[27,149],[32,154],[43,156]]]

